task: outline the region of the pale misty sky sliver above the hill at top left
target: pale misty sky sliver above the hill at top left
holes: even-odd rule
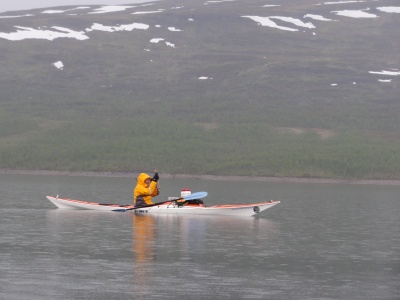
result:
[[[1,1],[0,13],[5,11],[48,8],[63,5],[120,5],[149,2],[150,0],[12,0]]]

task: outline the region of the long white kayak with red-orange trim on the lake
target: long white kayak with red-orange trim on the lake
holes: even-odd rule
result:
[[[114,212],[134,212],[137,214],[185,214],[185,215],[228,215],[228,216],[254,216],[268,208],[279,204],[280,201],[266,201],[252,204],[223,204],[205,206],[200,199],[182,200],[174,199],[150,206],[134,207],[133,205],[103,204],[88,202],[58,196],[47,196],[58,208],[62,209],[90,209]]]

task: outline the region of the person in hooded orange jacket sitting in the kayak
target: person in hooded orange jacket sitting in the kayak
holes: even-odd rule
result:
[[[138,181],[133,190],[133,205],[136,207],[154,204],[151,200],[158,196],[160,190],[157,182],[160,177],[155,172],[153,178],[146,173],[141,173],[138,176]]]

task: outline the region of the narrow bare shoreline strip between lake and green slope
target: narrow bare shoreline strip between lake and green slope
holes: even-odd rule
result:
[[[8,170],[0,169],[0,174],[47,175],[47,176],[98,176],[98,177],[135,177],[140,172],[93,172],[93,171],[51,171],[51,170]],[[400,180],[381,179],[327,179],[327,178],[297,178],[297,177],[263,177],[263,176],[218,176],[190,174],[162,174],[163,178],[227,180],[227,181],[258,181],[258,182],[288,182],[288,183],[330,183],[330,184],[363,184],[363,185],[399,185]]]

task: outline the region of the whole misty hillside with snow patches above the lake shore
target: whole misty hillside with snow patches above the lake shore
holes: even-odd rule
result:
[[[0,168],[400,179],[395,2],[2,13]]]

